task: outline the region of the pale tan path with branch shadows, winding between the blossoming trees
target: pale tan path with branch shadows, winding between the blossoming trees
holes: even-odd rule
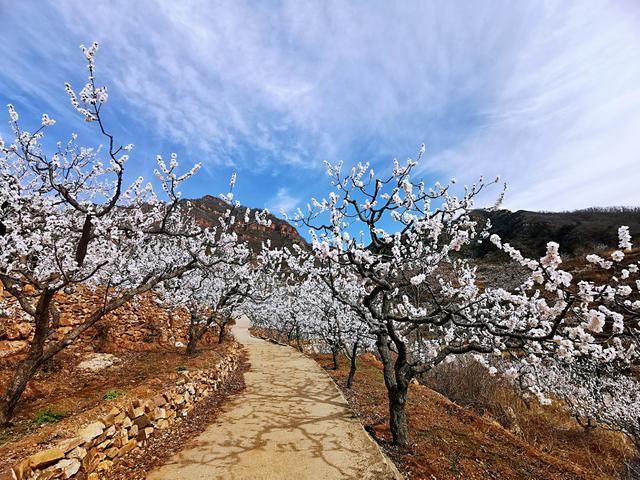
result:
[[[398,478],[313,360],[247,328],[245,320],[234,327],[251,362],[245,392],[148,479]]]

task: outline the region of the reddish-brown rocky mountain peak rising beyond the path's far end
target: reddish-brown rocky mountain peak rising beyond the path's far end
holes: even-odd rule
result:
[[[184,200],[189,202],[190,214],[201,227],[215,227],[219,225],[218,219],[230,207],[219,198],[206,195],[198,199]],[[244,213],[247,207],[238,207],[236,214],[235,231],[240,240],[247,241],[252,250],[258,251],[266,240],[271,241],[272,247],[291,247],[294,244],[304,246],[305,240],[298,231],[285,220],[269,215],[270,226],[260,225],[255,221],[255,209],[251,209],[249,223],[244,222]]]

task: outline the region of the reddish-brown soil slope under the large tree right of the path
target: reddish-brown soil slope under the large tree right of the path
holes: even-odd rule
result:
[[[349,391],[348,363],[342,359],[340,368],[332,370],[330,355],[315,356],[367,430],[410,479],[613,480],[621,478],[625,460],[633,455],[621,436],[599,430],[585,433],[571,418],[542,407],[518,419],[522,434],[516,436],[422,385],[411,386],[411,446],[400,451],[391,446],[382,371],[375,357],[368,357],[358,362]]]

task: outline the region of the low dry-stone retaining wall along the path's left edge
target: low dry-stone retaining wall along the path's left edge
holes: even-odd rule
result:
[[[180,372],[176,384],[152,399],[134,399],[124,408],[114,407],[78,436],[42,450],[13,467],[17,480],[109,478],[108,471],[123,456],[153,442],[155,429],[166,429],[186,417],[195,403],[218,390],[240,362],[241,347],[230,347],[214,367]]]

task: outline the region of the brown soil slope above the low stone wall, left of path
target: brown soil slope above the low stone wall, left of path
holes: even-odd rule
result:
[[[228,342],[233,341],[229,339]],[[198,355],[188,357],[175,351],[120,352],[120,363],[98,372],[76,368],[83,356],[62,353],[47,371],[39,373],[23,396],[14,425],[0,429],[0,473],[37,450],[47,448],[56,441],[72,437],[83,424],[105,415],[114,406],[127,403],[130,398],[148,398],[165,386],[175,383],[177,367],[190,370],[214,365],[224,356],[229,345],[205,346]],[[3,391],[12,370],[0,367],[0,391]],[[109,390],[118,390],[125,396],[105,400]],[[57,423],[38,427],[34,419],[39,412],[51,409],[65,414]]]

